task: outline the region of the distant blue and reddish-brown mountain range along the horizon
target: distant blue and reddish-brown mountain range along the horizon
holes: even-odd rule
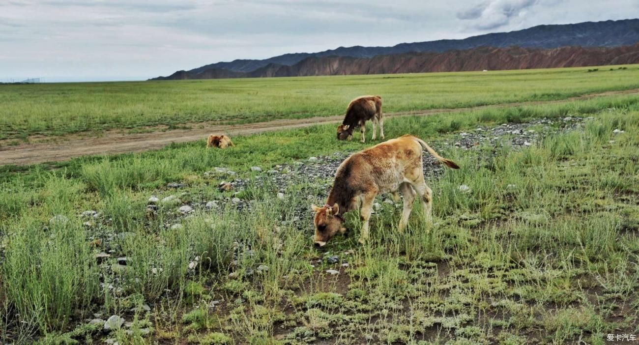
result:
[[[631,56],[636,57],[633,52],[638,49],[635,45],[637,42],[639,19],[541,25],[463,40],[400,43],[393,47],[339,47],[316,53],[284,54],[263,60],[238,59],[178,71],[168,77],[151,80],[504,70],[621,63],[613,61],[636,63],[639,61]],[[622,46],[628,47],[584,48]],[[511,48],[503,49],[506,47]],[[480,60],[473,60],[477,58]],[[564,58],[567,60],[562,60]]]

